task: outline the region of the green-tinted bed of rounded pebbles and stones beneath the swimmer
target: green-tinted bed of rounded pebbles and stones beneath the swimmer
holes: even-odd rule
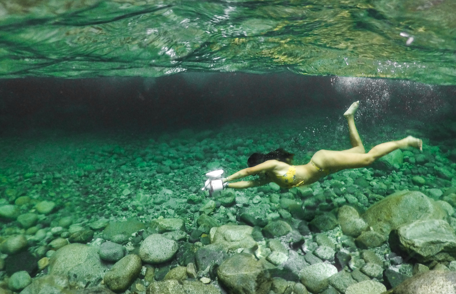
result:
[[[420,127],[391,119],[370,126],[364,144],[368,150],[411,134],[423,138],[423,152],[394,152],[305,187],[271,183],[213,198],[201,190],[204,174],[236,172],[253,152],[283,147],[304,164],[321,148],[349,148],[343,118],[306,117],[296,127],[280,118],[268,126],[160,136],[3,138],[0,288],[380,294],[429,269],[456,271],[450,253],[400,254],[392,234],[368,223],[373,204],[409,190],[438,203],[431,219],[448,226],[443,233],[456,229],[456,152],[430,142]],[[239,273],[256,284],[234,283]]]

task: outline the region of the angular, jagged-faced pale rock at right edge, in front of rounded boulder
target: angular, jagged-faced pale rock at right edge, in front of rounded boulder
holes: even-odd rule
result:
[[[397,229],[400,248],[420,262],[452,261],[456,258],[456,235],[440,219],[420,220]]]

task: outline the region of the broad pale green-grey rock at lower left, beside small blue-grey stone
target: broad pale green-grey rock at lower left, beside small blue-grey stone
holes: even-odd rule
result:
[[[98,248],[80,243],[64,246],[49,259],[49,274],[60,275],[78,280],[85,279],[91,284],[98,284],[103,279],[107,267],[98,255]]]

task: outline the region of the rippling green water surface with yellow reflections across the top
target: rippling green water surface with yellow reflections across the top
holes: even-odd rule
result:
[[[455,11],[450,0],[2,0],[0,75],[293,71],[454,85]]]

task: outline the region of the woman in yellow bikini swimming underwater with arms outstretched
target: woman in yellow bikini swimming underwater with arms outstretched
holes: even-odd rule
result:
[[[399,148],[415,147],[423,150],[423,141],[409,136],[399,141],[378,144],[366,153],[354,121],[354,113],[358,109],[358,104],[359,101],[354,102],[343,114],[348,122],[351,149],[343,151],[319,150],[312,156],[309,163],[296,166],[290,165],[294,154],[283,149],[277,149],[268,154],[254,153],[247,161],[248,168],[223,178],[223,183],[228,182],[228,188],[235,189],[262,186],[269,182],[275,182],[282,188],[293,188],[311,184],[321,177],[342,169],[366,167],[378,158]],[[252,181],[231,182],[256,174],[264,174],[264,177]]]

